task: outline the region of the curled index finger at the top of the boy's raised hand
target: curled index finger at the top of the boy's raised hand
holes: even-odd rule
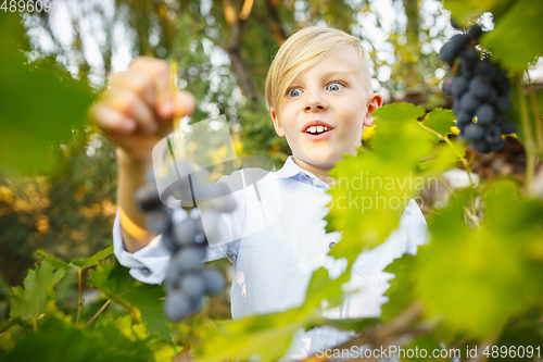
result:
[[[142,72],[151,77],[156,89],[156,113],[163,118],[174,115],[172,75],[167,63],[160,59],[138,58],[130,70]]]

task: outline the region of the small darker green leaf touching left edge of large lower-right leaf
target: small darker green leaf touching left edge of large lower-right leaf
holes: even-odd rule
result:
[[[384,292],[389,301],[382,305],[381,320],[383,322],[392,320],[400,314],[413,300],[415,300],[415,270],[417,257],[403,254],[389,264],[384,272],[394,274],[390,279],[390,288]]]

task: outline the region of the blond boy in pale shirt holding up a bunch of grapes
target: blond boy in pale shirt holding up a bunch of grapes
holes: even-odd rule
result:
[[[146,283],[162,283],[168,252],[160,236],[146,230],[146,216],[132,195],[151,166],[153,146],[172,129],[171,117],[194,109],[189,93],[172,95],[169,82],[164,62],[137,59],[128,72],[113,79],[111,89],[91,109],[99,127],[117,145],[115,255],[130,267],[135,278]],[[323,221],[330,201],[326,190],[334,182],[328,172],[344,153],[356,153],[364,127],[371,126],[371,112],[382,105],[381,96],[371,91],[359,40],[325,27],[299,30],[281,46],[266,79],[266,100],[275,129],[287,137],[293,154],[273,174],[273,183],[281,191],[282,211],[269,226],[247,233],[262,204],[249,191],[237,195],[238,208],[223,222],[241,226],[229,227],[233,241],[209,247],[205,259],[228,258],[235,265],[235,320],[303,303],[311,275],[319,266],[332,277],[344,271],[344,260],[327,255],[340,239],[338,232],[326,234]],[[225,176],[219,182],[228,184],[231,179]],[[266,185],[260,187],[265,195]],[[400,227],[386,242],[361,253],[354,263],[349,287],[362,290],[348,297],[340,308],[326,311],[325,316],[378,316],[391,277],[382,270],[404,252],[416,253],[426,236],[425,219],[412,200]],[[350,333],[327,326],[300,330],[285,358],[302,359],[350,337]]]

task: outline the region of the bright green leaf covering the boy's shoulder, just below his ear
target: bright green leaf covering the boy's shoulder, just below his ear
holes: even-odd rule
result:
[[[330,175],[339,182],[327,214],[327,232],[342,232],[342,239],[329,255],[346,258],[349,265],[364,247],[374,248],[397,227],[407,202],[416,194],[419,160],[432,142],[418,125],[420,107],[388,104],[372,113],[379,126],[374,139],[375,152],[358,149],[356,157],[345,155]]]

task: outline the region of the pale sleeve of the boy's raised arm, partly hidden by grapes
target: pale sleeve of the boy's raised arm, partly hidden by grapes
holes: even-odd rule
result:
[[[223,176],[217,183],[230,183],[229,176]],[[229,185],[230,186],[230,185]],[[206,257],[203,262],[227,258],[236,264],[240,245],[240,235],[242,235],[245,204],[243,200],[243,190],[232,192],[237,208],[231,213],[219,214],[218,228],[224,235],[222,242],[206,246]],[[198,212],[198,209],[193,209]],[[188,216],[185,209],[175,209],[174,217],[177,222]],[[202,213],[202,219],[205,213]],[[166,277],[169,264],[171,252],[162,242],[162,235],[154,237],[146,247],[136,252],[126,250],[123,234],[121,233],[119,211],[115,214],[113,224],[113,252],[119,264],[130,269],[130,275],[142,283],[161,284]]]

